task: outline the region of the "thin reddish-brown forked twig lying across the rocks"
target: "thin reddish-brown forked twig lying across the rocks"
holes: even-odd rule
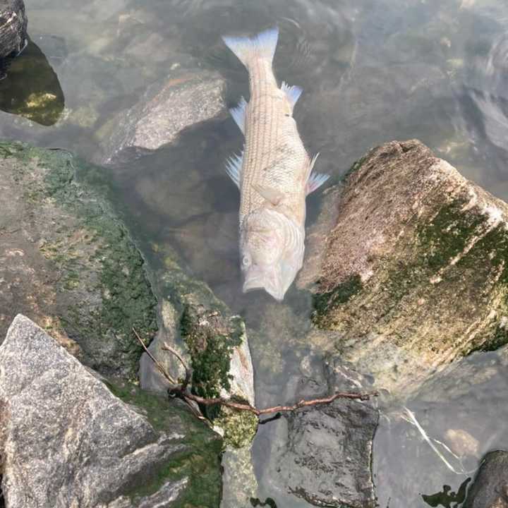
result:
[[[183,365],[183,368],[186,371],[186,378],[182,385],[178,385],[176,381],[169,375],[164,367],[152,356],[152,353],[148,351],[147,347],[145,346],[144,342],[141,340],[140,336],[138,335],[138,332],[135,331],[133,328],[133,332],[136,337],[138,337],[138,340],[140,341],[141,345],[143,346],[143,349],[147,352],[147,355],[150,356],[152,361],[157,365],[157,368],[159,371],[164,375],[164,377],[171,383],[171,385],[174,385],[173,388],[169,389],[169,393],[174,395],[175,397],[180,397],[186,403],[191,407],[193,412],[195,413],[195,409],[193,408],[191,401],[201,404],[202,406],[216,406],[217,404],[222,404],[222,406],[229,407],[231,409],[237,409],[238,411],[249,411],[250,413],[255,414],[256,416],[261,416],[265,414],[270,413],[281,413],[282,411],[296,411],[297,409],[301,409],[303,407],[309,407],[309,406],[317,406],[318,404],[330,404],[334,400],[337,399],[353,399],[353,400],[361,400],[366,401],[369,400],[370,397],[377,397],[377,392],[367,392],[367,393],[358,393],[358,392],[336,392],[330,397],[322,397],[320,399],[310,399],[310,400],[304,400],[298,401],[293,406],[273,406],[266,409],[258,409],[255,406],[251,406],[250,404],[241,404],[240,402],[234,402],[231,399],[224,399],[224,397],[217,397],[214,399],[206,399],[205,397],[199,397],[198,395],[195,395],[188,391],[188,383],[191,380],[191,370],[186,365],[185,361],[181,357],[180,353],[176,351],[176,349],[172,348],[164,342],[164,345],[162,349],[164,351],[169,351],[170,353],[173,353],[176,358],[179,359],[180,363]],[[205,419],[202,416],[199,416],[200,419]]]

